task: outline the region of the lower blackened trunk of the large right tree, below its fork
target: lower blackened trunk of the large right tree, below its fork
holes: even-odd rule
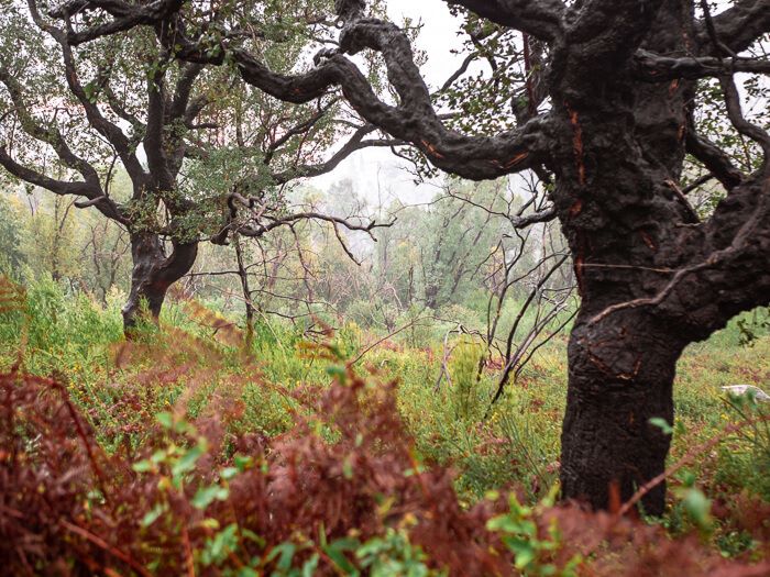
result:
[[[563,496],[612,508],[663,471],[670,436],[650,423],[673,423],[672,385],[684,344],[644,312],[592,323],[583,314],[569,345],[569,389],[562,430]],[[661,514],[666,486],[644,500]]]

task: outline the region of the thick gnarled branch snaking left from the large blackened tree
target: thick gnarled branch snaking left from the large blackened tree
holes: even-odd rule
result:
[[[516,2],[517,3],[517,2]],[[116,19],[127,18],[124,8],[98,0],[89,7],[101,8]],[[411,143],[438,168],[471,179],[487,179],[544,164],[549,158],[550,121],[531,119],[522,126],[496,136],[468,136],[449,130],[433,109],[429,90],[414,62],[409,38],[398,26],[377,19],[362,18],[363,2],[338,2],[346,16],[340,48],[317,57],[317,66],[301,75],[282,75],[267,68],[249,52],[227,43],[219,49],[205,49],[185,32],[179,14],[157,15],[160,38],[169,52],[191,63],[221,64],[227,51],[242,78],[279,100],[307,103],[340,87],[353,109],[369,123],[376,124],[394,138]],[[157,13],[160,14],[160,12]],[[143,16],[145,18],[145,16]],[[98,37],[98,30],[91,32]],[[79,36],[70,35],[70,42]],[[380,52],[385,58],[388,78],[399,102],[383,102],[369,79],[346,55],[363,49]]]

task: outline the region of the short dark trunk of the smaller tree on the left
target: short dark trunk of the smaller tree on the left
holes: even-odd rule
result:
[[[168,288],[190,270],[197,255],[198,243],[175,243],[170,256],[166,256],[157,234],[138,233],[131,236],[131,292],[123,307],[127,334],[136,326],[143,302],[150,318],[157,322]]]

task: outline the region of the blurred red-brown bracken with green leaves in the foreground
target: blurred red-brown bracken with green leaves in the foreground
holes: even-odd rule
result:
[[[515,492],[459,503],[420,463],[395,384],[322,347],[334,384],[274,439],[227,411],[146,424],[106,452],[55,379],[0,376],[0,563],[9,575],[763,575],[696,536]],[[754,528],[757,529],[756,526]],[[767,537],[768,535],[765,535]]]

